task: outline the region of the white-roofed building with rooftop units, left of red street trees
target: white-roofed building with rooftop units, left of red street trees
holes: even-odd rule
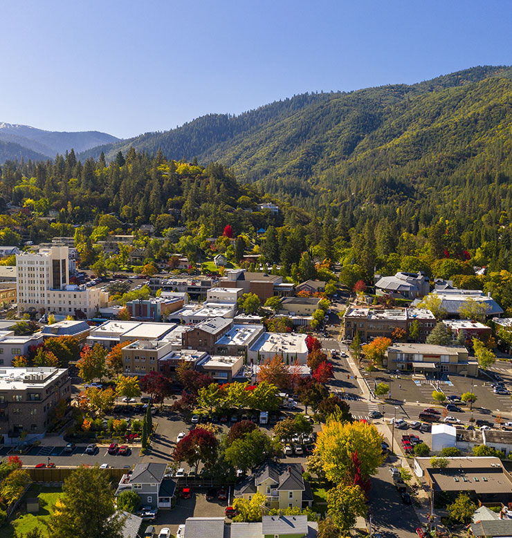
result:
[[[281,355],[285,362],[306,364],[308,348],[306,335],[299,333],[263,333],[248,349],[248,361],[258,364],[275,355]]]

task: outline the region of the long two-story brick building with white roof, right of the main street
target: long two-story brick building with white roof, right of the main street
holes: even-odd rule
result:
[[[356,332],[363,342],[385,336],[392,338],[401,328],[408,337],[413,324],[417,325],[417,340],[425,342],[436,325],[435,316],[426,308],[354,308],[349,306],[343,315],[343,337],[354,338]]]

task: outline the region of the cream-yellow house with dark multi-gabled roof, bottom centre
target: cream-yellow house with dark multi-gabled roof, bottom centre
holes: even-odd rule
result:
[[[313,503],[309,482],[302,478],[300,463],[266,461],[253,474],[235,485],[235,497],[265,496],[267,508],[306,508]]]

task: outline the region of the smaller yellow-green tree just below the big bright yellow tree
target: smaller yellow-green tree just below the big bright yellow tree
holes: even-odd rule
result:
[[[342,533],[356,524],[356,517],[367,512],[365,492],[358,485],[338,484],[327,492],[327,514]]]

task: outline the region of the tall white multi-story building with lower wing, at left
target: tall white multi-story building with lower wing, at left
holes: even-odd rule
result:
[[[18,313],[45,312],[94,317],[109,294],[99,288],[69,284],[68,247],[51,247],[37,254],[16,255]]]

